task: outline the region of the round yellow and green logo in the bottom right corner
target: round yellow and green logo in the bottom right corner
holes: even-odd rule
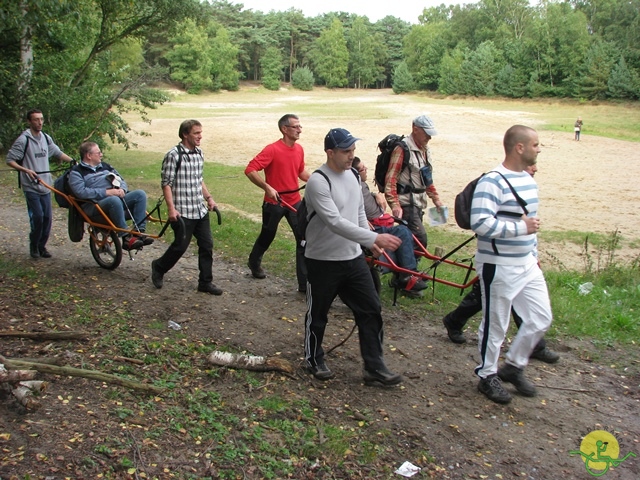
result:
[[[620,458],[620,445],[611,433],[605,430],[594,430],[585,435],[580,444],[580,450],[571,450],[570,455],[580,455],[584,467],[590,475],[601,477],[611,467],[617,467],[629,457],[635,457],[633,452]]]

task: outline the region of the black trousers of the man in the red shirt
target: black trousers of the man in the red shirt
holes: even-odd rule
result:
[[[300,202],[293,205],[293,208],[298,208]],[[298,217],[295,212],[288,208],[281,207],[274,203],[264,202],[262,204],[262,229],[260,235],[256,239],[251,254],[249,255],[249,261],[253,264],[260,264],[262,256],[269,249],[273,240],[276,238],[278,232],[278,225],[282,218],[287,219],[289,227],[296,239],[296,276],[298,278],[298,286],[306,288],[307,285],[307,269],[305,266],[304,247],[300,245],[300,239],[298,238]]]

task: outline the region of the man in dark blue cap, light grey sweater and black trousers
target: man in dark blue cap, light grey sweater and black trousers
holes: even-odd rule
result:
[[[335,376],[325,363],[322,340],[329,308],[339,295],[358,326],[365,384],[388,387],[402,377],[384,363],[382,308],[361,246],[380,254],[396,250],[401,240],[369,229],[360,181],[351,168],[357,140],[343,128],[330,130],[324,139],[327,161],[307,182],[305,360],[318,380]]]

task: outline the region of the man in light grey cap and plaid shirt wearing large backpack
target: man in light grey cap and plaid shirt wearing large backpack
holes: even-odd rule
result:
[[[422,245],[427,246],[427,232],[422,223],[427,197],[443,206],[433,184],[431,150],[428,143],[437,135],[433,120],[420,115],[413,120],[411,134],[403,142],[409,149],[409,161],[404,161],[404,149],[398,145],[391,154],[385,177],[384,193],[394,217],[409,222],[409,229]],[[406,168],[403,165],[406,163]]]

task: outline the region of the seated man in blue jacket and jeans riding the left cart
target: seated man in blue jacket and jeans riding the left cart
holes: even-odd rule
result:
[[[75,197],[88,200],[82,202],[81,206],[92,220],[106,223],[100,213],[102,210],[119,229],[129,229],[126,222],[129,217],[137,231],[145,231],[147,194],[144,190],[129,191],[127,182],[118,171],[102,161],[102,152],[98,144],[84,142],[80,145],[80,163],[71,169],[69,188]],[[124,250],[137,250],[153,243],[153,238],[145,235],[125,232],[118,232],[118,235],[121,237]]]

